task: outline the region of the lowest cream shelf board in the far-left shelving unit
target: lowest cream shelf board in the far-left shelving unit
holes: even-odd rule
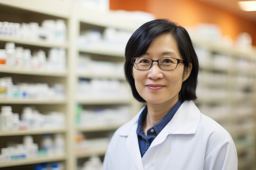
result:
[[[66,160],[65,156],[38,157],[38,158],[31,158],[31,159],[27,159],[27,160],[15,160],[15,161],[8,161],[8,162],[0,162],[0,168],[11,167],[11,166],[20,166],[20,165],[30,165],[30,164],[43,163],[43,162],[64,161],[64,160]]]

